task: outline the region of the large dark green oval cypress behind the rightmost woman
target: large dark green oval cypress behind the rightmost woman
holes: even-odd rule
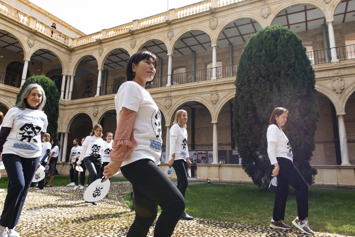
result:
[[[288,109],[284,133],[290,140],[294,164],[308,184],[317,170],[310,159],[319,118],[315,73],[302,40],[281,26],[260,29],[241,54],[233,105],[234,139],[242,167],[258,186],[271,180],[266,133],[276,107]]]

